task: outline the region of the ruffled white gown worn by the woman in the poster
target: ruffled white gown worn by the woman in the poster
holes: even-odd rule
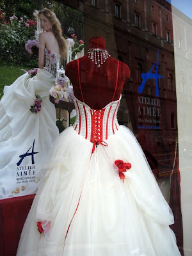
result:
[[[26,73],[11,86],[4,86],[0,102],[0,199],[36,193],[42,176],[42,164],[58,136],[56,110],[49,90],[56,77],[59,55],[45,49],[45,70],[36,76]],[[12,74],[10,74],[11,76]],[[41,110],[30,106],[42,98]]]

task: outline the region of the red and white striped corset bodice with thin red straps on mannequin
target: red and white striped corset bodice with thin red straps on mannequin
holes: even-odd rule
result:
[[[77,64],[79,72],[79,60],[77,60]],[[117,81],[118,77],[116,77],[116,86]],[[79,86],[81,90],[80,80]],[[83,99],[82,90],[81,95]],[[120,95],[120,99],[121,97],[122,96]],[[90,140],[93,143],[93,152],[95,150],[95,146],[99,144],[107,146],[106,140],[108,140],[108,137],[115,134],[115,132],[118,130],[119,125],[116,114],[120,104],[120,99],[116,101],[113,101],[112,99],[112,101],[102,109],[91,109],[90,106],[74,97],[74,104],[77,111],[76,122],[73,126],[74,130],[83,136],[83,138]]]

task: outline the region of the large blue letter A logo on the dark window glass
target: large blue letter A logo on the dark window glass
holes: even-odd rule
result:
[[[143,92],[143,89],[144,89],[145,84],[146,84],[148,79],[156,79],[156,96],[159,97],[158,79],[163,78],[163,76],[158,74],[158,62],[159,62],[159,50],[157,51],[157,61],[154,63],[152,68],[150,68],[148,73],[142,73],[141,74],[141,78],[143,78],[143,81],[140,84],[140,86],[138,87],[138,93],[141,94],[141,92]],[[156,74],[152,73],[152,70],[153,70],[155,65],[156,65]]]

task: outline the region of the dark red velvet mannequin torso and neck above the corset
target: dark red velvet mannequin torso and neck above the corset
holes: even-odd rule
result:
[[[90,49],[106,49],[106,42],[102,36],[95,36],[90,39]],[[79,59],[79,74],[81,79],[81,88],[84,102],[90,108],[104,108],[113,99],[116,85],[116,72],[118,61],[109,57],[100,68],[94,61],[86,56]],[[66,66],[66,76],[69,77],[74,87],[74,94],[77,99],[83,101],[79,90],[79,78],[77,60],[71,61]],[[129,67],[119,61],[118,81],[115,96],[113,100],[118,100],[122,92],[125,81],[129,78]],[[102,97],[100,97],[102,95]]]

